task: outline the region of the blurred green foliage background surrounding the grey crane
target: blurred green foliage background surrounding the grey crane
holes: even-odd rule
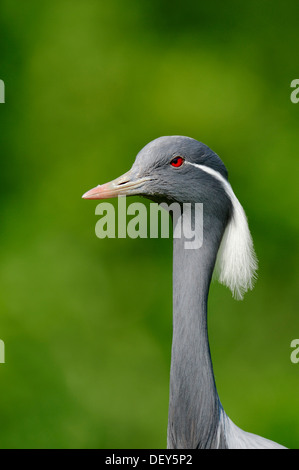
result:
[[[299,446],[298,13],[297,0],[1,1],[1,448],[166,446],[171,241],[97,239],[81,195],[171,134],[221,156],[260,260],[243,302],[211,288],[222,404]]]

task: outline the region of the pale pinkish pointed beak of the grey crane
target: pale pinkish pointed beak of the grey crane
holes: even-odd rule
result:
[[[83,199],[108,199],[117,196],[134,196],[142,193],[143,184],[149,178],[135,178],[131,170],[109,183],[105,183],[87,191]]]

